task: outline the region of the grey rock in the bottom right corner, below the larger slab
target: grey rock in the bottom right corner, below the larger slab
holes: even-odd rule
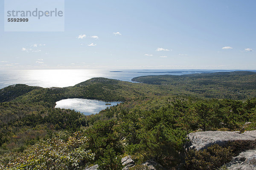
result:
[[[228,170],[256,170],[256,150],[241,152],[226,167]]]

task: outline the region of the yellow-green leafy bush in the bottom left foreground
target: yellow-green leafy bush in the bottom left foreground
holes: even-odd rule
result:
[[[67,142],[57,135],[23,152],[4,154],[0,157],[0,169],[81,170],[94,159],[94,154],[84,149],[86,142],[80,132],[70,136]]]

